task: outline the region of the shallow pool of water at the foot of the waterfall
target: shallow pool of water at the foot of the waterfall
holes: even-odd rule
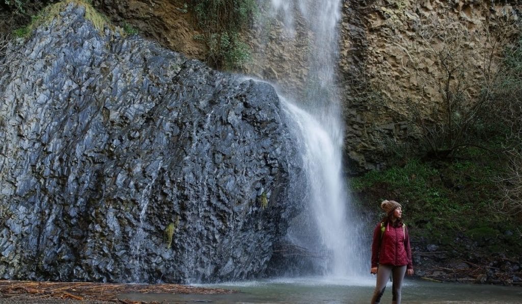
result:
[[[266,281],[198,285],[239,290],[227,295],[124,294],[120,299],[164,303],[369,303],[375,278],[280,278]],[[382,303],[392,302],[392,283]],[[405,279],[403,303],[522,303],[522,287],[436,283]]]

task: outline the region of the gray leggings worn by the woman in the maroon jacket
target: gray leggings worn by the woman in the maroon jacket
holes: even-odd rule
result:
[[[381,302],[381,297],[384,294],[386,283],[390,275],[392,276],[392,303],[400,304],[400,289],[402,287],[402,279],[406,274],[406,265],[392,266],[392,265],[379,265],[377,270],[377,284],[373,291],[372,304]]]

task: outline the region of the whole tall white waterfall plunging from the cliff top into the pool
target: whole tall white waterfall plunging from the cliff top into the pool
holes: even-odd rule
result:
[[[354,214],[342,172],[343,122],[336,83],[341,4],[341,0],[271,0],[266,9],[272,19],[263,20],[261,28],[256,29],[261,33],[258,37],[269,39],[260,43],[261,49],[255,56],[260,62],[265,60],[262,65],[270,66],[271,58],[262,58],[269,53],[268,43],[284,45],[279,50],[291,45],[293,53],[308,53],[304,64],[306,75],[288,72],[272,79],[281,87],[280,98],[302,138],[300,145],[309,183],[309,205],[295,219],[287,238],[296,246],[326,257],[315,262],[315,269],[322,274],[354,277],[362,275],[369,256],[361,241],[362,221]],[[263,28],[267,22],[272,22],[269,29]],[[282,24],[282,30],[274,31],[274,24]],[[271,32],[262,34],[263,31]],[[275,39],[274,32],[280,37]],[[290,65],[293,67],[295,63]],[[276,71],[276,75],[278,72],[286,71]]]

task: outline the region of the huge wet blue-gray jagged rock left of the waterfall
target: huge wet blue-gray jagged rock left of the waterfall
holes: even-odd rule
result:
[[[302,193],[274,89],[84,14],[70,4],[0,61],[0,277],[262,275]]]

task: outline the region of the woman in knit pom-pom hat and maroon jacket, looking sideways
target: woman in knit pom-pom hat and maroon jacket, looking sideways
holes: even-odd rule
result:
[[[402,206],[396,201],[383,201],[381,208],[386,216],[373,232],[372,274],[377,274],[372,304],[379,303],[386,282],[392,275],[392,303],[400,304],[400,289],[405,273],[413,274],[408,229],[402,223]]]

